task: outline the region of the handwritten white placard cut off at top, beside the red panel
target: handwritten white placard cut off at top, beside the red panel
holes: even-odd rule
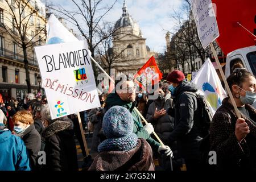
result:
[[[205,48],[220,35],[212,1],[192,0],[191,9],[200,42]]]

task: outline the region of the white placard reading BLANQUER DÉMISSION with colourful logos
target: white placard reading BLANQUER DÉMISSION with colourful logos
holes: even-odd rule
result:
[[[35,47],[51,118],[100,107],[85,41]]]

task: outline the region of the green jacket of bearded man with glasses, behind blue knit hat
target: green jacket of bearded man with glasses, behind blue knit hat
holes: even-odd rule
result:
[[[158,150],[158,147],[160,146],[160,143],[156,142],[156,140],[152,139],[150,135],[148,135],[147,131],[143,128],[141,118],[139,117],[139,114],[137,111],[134,110],[134,107],[136,105],[136,101],[134,102],[125,102],[121,100],[121,98],[118,96],[118,94],[111,93],[106,98],[106,110],[108,110],[112,106],[122,106],[126,107],[130,111],[130,113],[133,115],[133,132],[138,136],[138,138],[144,138],[147,140],[147,142],[150,144],[152,149],[154,151]]]

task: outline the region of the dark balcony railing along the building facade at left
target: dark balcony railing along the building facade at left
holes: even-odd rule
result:
[[[6,57],[7,59],[19,61],[20,63],[24,63],[24,56],[18,53],[14,53],[13,51],[7,50],[5,48],[0,48],[0,56]],[[27,57],[28,64],[38,67],[38,61],[36,58]]]

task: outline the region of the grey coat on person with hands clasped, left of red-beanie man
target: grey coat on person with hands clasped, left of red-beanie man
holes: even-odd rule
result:
[[[170,140],[168,139],[172,130],[174,130],[174,118],[166,114],[158,119],[154,119],[155,108],[158,110],[168,110],[172,106],[171,94],[167,94],[164,100],[154,100],[147,110],[146,120],[152,123],[154,126],[155,133],[162,140],[164,144],[170,146]]]

